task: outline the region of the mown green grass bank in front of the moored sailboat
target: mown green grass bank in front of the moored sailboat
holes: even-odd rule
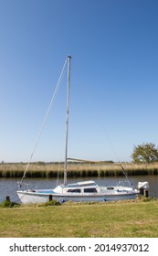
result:
[[[158,201],[0,208],[0,237],[158,237]]]

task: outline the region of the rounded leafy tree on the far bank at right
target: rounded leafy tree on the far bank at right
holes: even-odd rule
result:
[[[158,149],[152,143],[134,146],[132,160],[135,163],[147,164],[158,162]]]

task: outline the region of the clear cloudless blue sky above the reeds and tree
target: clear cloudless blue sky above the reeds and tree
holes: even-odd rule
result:
[[[27,162],[68,54],[68,156],[158,145],[156,0],[0,0],[0,162]],[[33,161],[62,161],[66,75]]]

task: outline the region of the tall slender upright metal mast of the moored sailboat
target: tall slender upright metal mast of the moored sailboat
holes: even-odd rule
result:
[[[67,112],[66,112],[66,149],[65,149],[65,165],[64,165],[64,185],[67,185],[67,160],[68,160],[68,115],[69,115],[69,81],[70,81],[70,59],[68,56],[68,94],[67,94]]]

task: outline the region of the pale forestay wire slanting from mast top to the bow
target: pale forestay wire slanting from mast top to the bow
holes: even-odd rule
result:
[[[57,83],[57,85],[56,85],[55,91],[54,91],[54,93],[53,93],[53,95],[52,95],[51,101],[50,101],[50,103],[49,103],[49,105],[48,105],[48,108],[47,108],[47,113],[46,113],[46,115],[45,115],[44,121],[43,121],[43,123],[42,123],[42,125],[41,125],[41,127],[40,127],[40,130],[39,130],[39,133],[38,133],[38,135],[37,135],[37,141],[36,141],[36,143],[35,143],[35,145],[34,145],[34,148],[33,148],[32,153],[31,153],[31,155],[30,155],[28,164],[26,165],[26,170],[25,170],[25,172],[24,172],[24,175],[22,176],[21,181],[18,183],[18,187],[21,187],[21,186],[22,186],[23,180],[24,180],[24,178],[26,177],[26,171],[27,171],[27,169],[28,169],[28,167],[29,167],[29,165],[30,165],[30,163],[31,163],[31,161],[32,161],[33,155],[34,155],[34,153],[35,153],[35,151],[36,151],[37,144],[38,144],[39,139],[40,139],[40,136],[41,136],[41,134],[42,134],[42,132],[43,132],[45,123],[47,122],[47,117],[48,117],[48,114],[49,114],[49,112],[50,112],[50,109],[51,109],[51,106],[52,106],[52,104],[53,104],[53,101],[55,100],[55,97],[57,96],[58,88],[59,88],[59,85],[60,85],[60,83],[61,83],[61,80],[62,80],[64,71],[65,71],[65,68],[66,68],[66,65],[67,65],[67,61],[68,61],[68,60],[66,59],[66,60],[65,60],[65,63],[64,63],[64,66],[63,66],[63,68],[62,68],[62,70],[61,70],[61,73],[60,73],[60,76],[59,76],[59,79],[58,79],[58,83]]]

